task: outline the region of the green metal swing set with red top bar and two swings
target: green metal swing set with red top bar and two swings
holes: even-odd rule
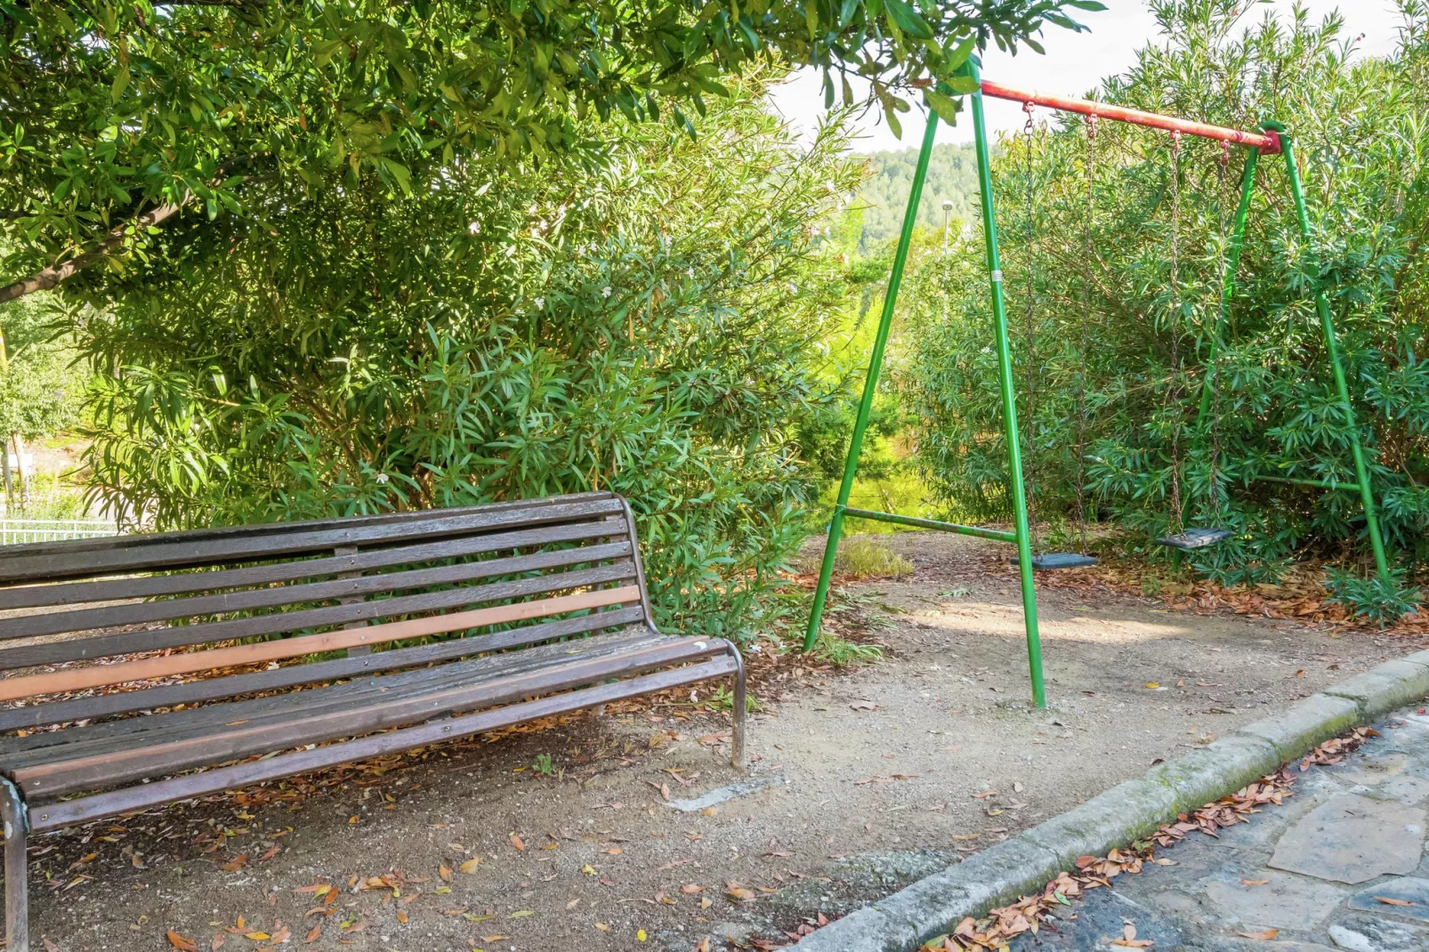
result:
[[[1180,354],[1180,336],[1182,329],[1179,326],[1180,319],[1180,143],[1185,136],[1196,136],[1200,139],[1210,139],[1220,143],[1220,154],[1218,159],[1218,173],[1220,182],[1220,310],[1216,317],[1215,327],[1212,329],[1209,339],[1206,340],[1209,359],[1206,360],[1206,372],[1200,389],[1200,405],[1198,412],[1198,425],[1208,420],[1210,423],[1210,472],[1209,472],[1209,496],[1210,509],[1215,516],[1220,513],[1220,489],[1218,486],[1218,457],[1219,457],[1219,435],[1216,430],[1216,415],[1219,410],[1219,389],[1216,382],[1216,373],[1219,367],[1219,354],[1223,349],[1222,339],[1226,327],[1226,319],[1230,310],[1230,297],[1235,290],[1235,273],[1236,266],[1240,259],[1240,249],[1245,242],[1245,227],[1250,212],[1250,193],[1255,187],[1256,166],[1260,156],[1283,156],[1285,167],[1290,182],[1290,197],[1295,202],[1295,213],[1300,227],[1300,234],[1306,242],[1305,254],[1309,257],[1313,254],[1310,247],[1310,219],[1305,207],[1305,190],[1300,184],[1299,167],[1295,163],[1295,150],[1290,142],[1290,136],[1286,133],[1285,126],[1276,122],[1262,122],[1260,132],[1242,132],[1238,129],[1226,129],[1222,126],[1210,126],[1206,123],[1199,123],[1187,119],[1179,119],[1173,116],[1160,116],[1156,113],[1145,113],[1135,109],[1125,109],[1122,106],[1112,106],[1109,103],[1096,103],[1083,99],[1069,99],[1065,96],[1046,96],[1042,93],[1033,93],[1027,90],[1013,89],[1002,83],[995,83],[992,80],[983,80],[979,76],[979,63],[976,57],[970,57],[967,63],[962,67],[965,76],[970,77],[975,90],[970,94],[972,100],[972,116],[973,116],[973,146],[977,156],[977,186],[982,199],[982,220],[983,220],[983,240],[986,244],[987,256],[987,274],[989,286],[992,293],[992,314],[993,314],[993,336],[997,353],[997,372],[999,383],[1002,390],[1002,422],[1003,432],[1007,442],[1007,486],[1012,496],[1013,509],[1013,529],[1010,532],[1003,529],[989,529],[983,526],[963,526],[952,522],[940,522],[936,519],[919,519],[913,516],[900,516],[896,513],[875,512],[869,509],[856,509],[849,506],[849,495],[853,489],[853,480],[859,470],[859,455],[863,449],[863,437],[869,425],[869,413],[873,406],[873,395],[877,389],[879,370],[883,365],[883,352],[887,346],[889,329],[893,322],[893,307],[897,302],[899,286],[903,282],[903,269],[907,264],[907,250],[913,239],[913,226],[917,220],[917,206],[923,193],[923,180],[927,177],[927,163],[933,149],[933,139],[937,133],[937,113],[929,110],[927,126],[923,130],[923,144],[917,156],[917,166],[913,172],[913,184],[909,192],[907,210],[903,214],[903,229],[899,234],[897,250],[893,256],[893,270],[889,274],[887,290],[883,297],[883,310],[879,317],[877,333],[873,337],[873,350],[869,356],[867,376],[863,382],[863,397],[859,402],[859,412],[855,417],[853,435],[849,443],[849,455],[843,466],[843,480],[839,485],[837,500],[833,506],[833,515],[829,520],[829,539],[825,543],[823,562],[819,569],[819,583],[815,589],[813,606],[809,613],[809,629],[805,635],[805,650],[813,649],[819,638],[819,625],[823,619],[823,609],[829,595],[829,582],[833,575],[835,556],[839,549],[839,539],[843,535],[843,520],[846,517],[856,519],[870,519],[876,522],[887,522],[893,525],[912,526],[917,529],[937,529],[942,532],[955,532],[965,536],[975,536],[977,539],[990,539],[995,542],[1010,542],[1016,545],[1017,556],[1012,562],[1017,566],[1019,575],[1022,577],[1022,609],[1023,620],[1027,632],[1027,666],[1032,680],[1032,700],[1037,708],[1046,706],[1046,690],[1043,688],[1042,679],[1042,639],[1037,630],[1037,598],[1035,587],[1033,572],[1036,569],[1053,570],[1053,569],[1072,569],[1096,565],[1096,556],[1090,555],[1086,547],[1086,512],[1083,499],[1083,460],[1086,455],[1086,353],[1089,344],[1089,336],[1092,329],[1092,277],[1090,273],[1083,274],[1083,300],[1082,300],[1082,324],[1080,324],[1080,353],[1082,353],[1082,367],[1077,377],[1077,445],[1076,445],[1076,500],[1075,500],[1075,517],[1080,527],[1080,549],[1079,552],[1037,552],[1037,540],[1032,535],[1032,517],[1029,512],[1035,505],[1035,477],[1033,470],[1029,466],[1023,466],[1022,459],[1022,440],[1019,439],[1017,427],[1017,400],[1013,387],[1013,370],[1012,370],[1012,347],[1007,336],[1007,309],[1003,300],[1003,272],[1002,260],[997,253],[997,220],[993,206],[993,184],[992,184],[992,169],[989,162],[989,146],[987,146],[987,126],[983,117],[983,97],[992,96],[996,99],[1012,100],[1022,103],[1023,110],[1027,113],[1027,124],[1023,134],[1027,136],[1027,163],[1029,163],[1029,207],[1035,200],[1032,190],[1032,142],[1035,123],[1033,113],[1040,107],[1077,113],[1086,116],[1086,227],[1083,230],[1085,240],[1085,267],[1092,266],[1092,232],[1090,219],[1095,200],[1093,189],[1093,173],[1096,164],[1096,130],[1097,123],[1102,120],[1113,120],[1122,123],[1130,123],[1135,126],[1146,126],[1149,129],[1159,129],[1169,133],[1169,152],[1170,152],[1170,190],[1172,190],[1172,212],[1170,212],[1170,365],[1172,365],[1172,385],[1169,387],[1169,402],[1176,403],[1182,396],[1182,385],[1185,382],[1185,367],[1182,366]],[[1239,146],[1245,149],[1245,166],[1240,173],[1240,200],[1236,207],[1235,220],[1229,239],[1226,237],[1226,182],[1230,164],[1230,149],[1232,146]],[[1035,254],[1030,253],[1033,243],[1036,240],[1032,217],[1029,214],[1027,226],[1027,240],[1029,240],[1029,254],[1027,254],[1027,314],[1026,314],[1026,330],[1027,330],[1027,385],[1026,385],[1026,402],[1027,402],[1027,452],[1032,450],[1032,417],[1036,409],[1036,334],[1033,330],[1035,324],[1035,309],[1036,309],[1036,294],[1035,294],[1035,274],[1033,274],[1033,259]],[[1308,262],[1313,272],[1313,260]],[[1360,500],[1365,507],[1365,522],[1369,533],[1370,546],[1375,553],[1375,566],[1380,577],[1389,576],[1389,566],[1385,557],[1385,546],[1379,533],[1379,519],[1375,512],[1375,496],[1369,482],[1369,467],[1365,462],[1365,450],[1360,446],[1359,433],[1355,425],[1355,412],[1350,405],[1349,385],[1345,379],[1345,367],[1340,362],[1339,347],[1335,342],[1335,324],[1330,320],[1329,300],[1325,296],[1323,287],[1316,287],[1315,292],[1315,306],[1319,313],[1320,320],[1320,334],[1325,342],[1326,359],[1330,363],[1330,369],[1335,376],[1336,396],[1340,403],[1340,409],[1345,415],[1345,423],[1350,433],[1350,455],[1355,463],[1355,477],[1353,483],[1342,483],[1333,480],[1313,480],[1313,479],[1288,479],[1279,476],[1258,476],[1262,482],[1278,482],[1290,483],[1296,486],[1309,486],[1316,489],[1328,490],[1350,490],[1359,492]],[[1169,407],[1175,409],[1175,406]],[[1160,539],[1156,539],[1159,545],[1167,546],[1175,550],[1175,556],[1179,559],[1180,553],[1186,550],[1195,550],[1205,546],[1216,545],[1235,535],[1232,530],[1222,526],[1186,526],[1183,523],[1183,502],[1180,496],[1180,433],[1182,433],[1180,415],[1175,416],[1170,430],[1170,459],[1172,459],[1172,473],[1170,473],[1170,527],[1172,532]],[[1033,500],[1033,502],[1029,502]]]

